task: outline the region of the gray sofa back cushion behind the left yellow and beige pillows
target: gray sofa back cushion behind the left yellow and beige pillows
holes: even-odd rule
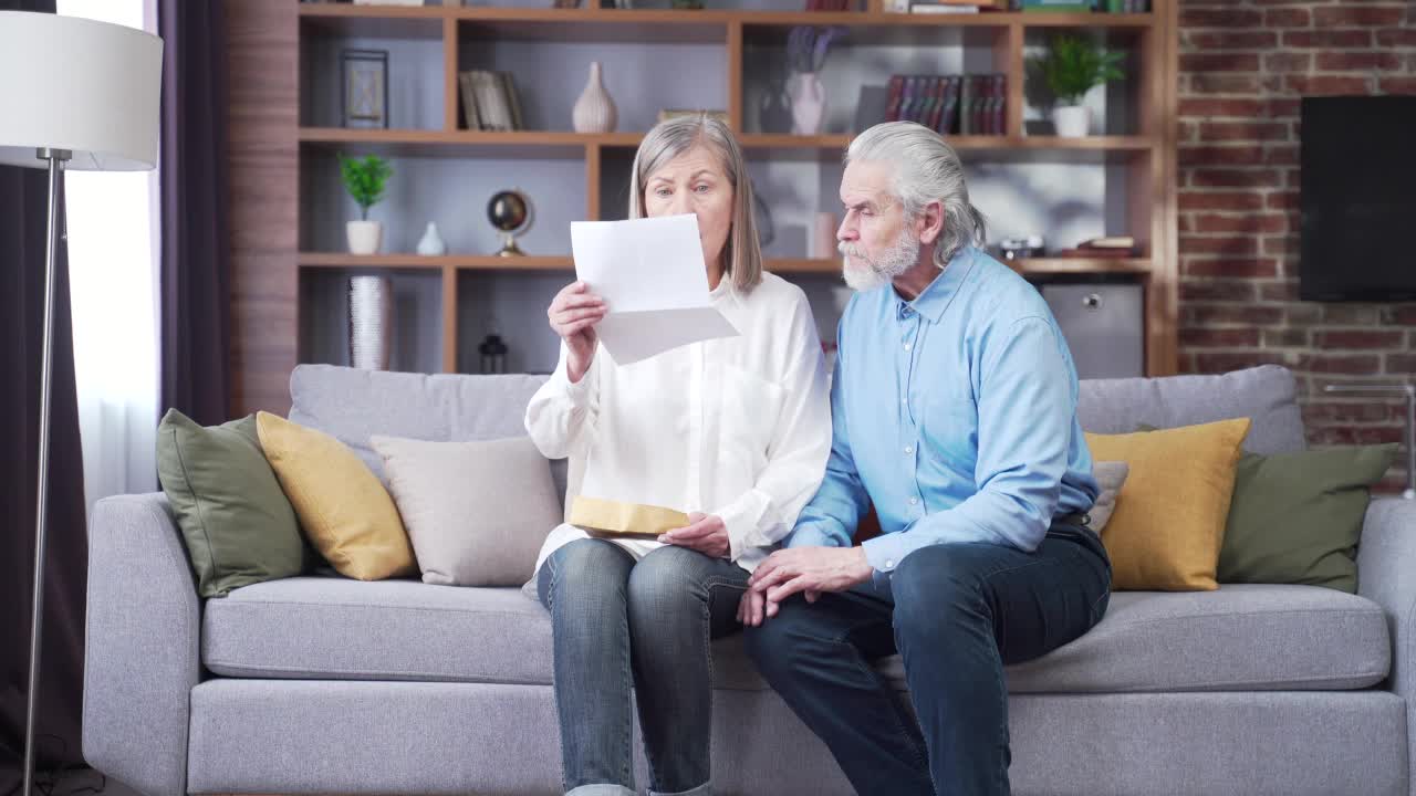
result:
[[[544,375],[389,373],[338,365],[290,371],[290,422],[323,431],[358,453],[381,480],[384,460],[368,438],[473,442],[525,436],[525,411]],[[551,465],[565,496],[565,460]]]

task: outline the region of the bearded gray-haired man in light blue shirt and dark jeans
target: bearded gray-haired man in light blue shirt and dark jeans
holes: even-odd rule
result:
[[[831,456],[750,579],[748,650],[860,793],[1008,793],[1003,667],[1110,593],[1076,368],[1038,292],[974,246],[942,137],[877,125],[845,160]],[[852,545],[871,504],[884,533]],[[896,652],[915,715],[867,664]]]

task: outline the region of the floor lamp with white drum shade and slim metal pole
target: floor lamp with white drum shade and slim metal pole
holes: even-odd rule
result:
[[[157,164],[163,42],[108,23],[0,11],[0,163],[47,169],[44,347],[40,365],[40,472],[34,523],[34,615],[24,714],[24,796],[34,786],[34,710],[44,613],[44,525],[50,476],[50,374],[59,174],[140,171]],[[18,263],[24,268],[25,263]]]

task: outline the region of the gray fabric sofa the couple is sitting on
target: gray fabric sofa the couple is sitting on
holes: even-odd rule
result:
[[[539,381],[302,365],[292,419],[377,466],[375,432],[524,433]],[[1250,450],[1304,445],[1293,377],[1277,367],[1082,384],[1089,431],[1239,415],[1253,418]],[[160,494],[99,503],[89,547],[84,755],[125,785],[558,792],[551,625],[520,591],[304,576],[202,602]],[[1416,506],[1372,501],[1359,568],[1358,596],[1116,593],[1092,633],[1008,670],[1015,793],[1413,793]],[[714,659],[719,793],[850,792],[741,636]],[[899,661],[879,669],[903,695]],[[643,789],[643,759],[637,772]]]

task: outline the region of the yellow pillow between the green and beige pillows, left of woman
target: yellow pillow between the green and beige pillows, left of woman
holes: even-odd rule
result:
[[[310,544],[340,575],[379,581],[418,564],[394,499],[344,443],[269,412],[256,433]]]

